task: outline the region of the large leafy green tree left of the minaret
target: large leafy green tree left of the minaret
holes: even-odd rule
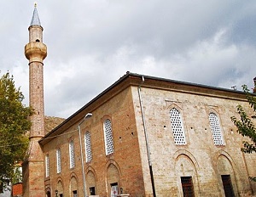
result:
[[[16,165],[23,160],[28,146],[31,127],[28,119],[33,110],[22,104],[20,87],[15,87],[14,77],[9,72],[0,78],[0,185],[6,179],[17,179]]]

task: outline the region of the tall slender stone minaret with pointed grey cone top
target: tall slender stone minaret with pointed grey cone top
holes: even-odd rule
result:
[[[29,104],[34,114],[31,116],[29,148],[26,160],[23,162],[23,196],[34,197],[45,196],[44,154],[38,140],[44,137],[43,60],[47,55],[47,48],[43,43],[43,27],[40,24],[36,3],[28,31],[29,42],[25,46],[25,55],[29,60]]]

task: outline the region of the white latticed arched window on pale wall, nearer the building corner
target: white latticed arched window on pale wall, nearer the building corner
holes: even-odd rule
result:
[[[183,121],[179,111],[175,108],[170,110],[172,132],[175,144],[186,144]]]

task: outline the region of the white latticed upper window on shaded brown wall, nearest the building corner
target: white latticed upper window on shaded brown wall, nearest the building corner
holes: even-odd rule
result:
[[[113,153],[113,133],[112,133],[111,121],[109,119],[104,121],[104,139],[105,139],[106,155],[112,154]]]

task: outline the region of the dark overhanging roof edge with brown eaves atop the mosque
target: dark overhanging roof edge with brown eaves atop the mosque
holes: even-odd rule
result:
[[[69,127],[70,124],[75,123],[76,121],[81,120],[84,117],[84,111],[91,110],[91,106],[95,104],[100,99],[104,99],[103,97],[107,94],[114,95],[114,92],[121,91],[121,88],[125,88],[128,86],[138,86],[138,87],[156,87],[162,89],[172,89],[176,92],[183,93],[197,93],[201,95],[214,96],[219,98],[230,98],[230,99],[238,99],[244,100],[245,93],[233,89],[226,89],[222,87],[212,87],[206,86],[196,83],[190,82],[180,82],[166,78],[160,78],[155,76],[144,76],[136,73],[131,73],[129,71],[126,74],[119,78],[117,82],[114,82],[110,87],[105,89],[102,93],[98,94],[96,98],[90,100],[89,103],[85,104],[81,109],[77,110],[73,115],[69,116],[65,121],[63,121],[59,126],[55,127],[51,132],[47,133],[44,138],[39,140],[40,144],[44,144],[47,138],[54,138],[59,129],[63,126]],[[90,111],[87,111],[90,112]],[[44,142],[43,142],[44,141]]]

